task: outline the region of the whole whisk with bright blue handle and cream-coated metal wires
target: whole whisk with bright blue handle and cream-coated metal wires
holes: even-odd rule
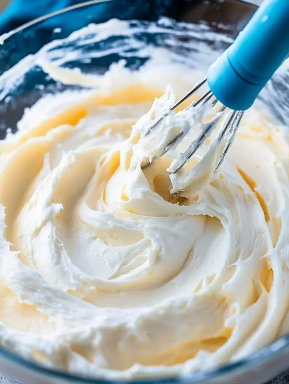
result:
[[[206,83],[210,89],[186,109],[196,108],[208,102],[213,107],[218,102],[222,104],[220,111],[203,124],[197,139],[173,162],[170,173],[175,174],[195,154],[229,108],[231,111],[226,115],[216,138],[219,144],[225,140],[223,151],[216,162],[215,170],[218,169],[233,143],[244,111],[252,106],[288,53],[289,0],[265,0],[234,43],[210,66],[207,77],[195,84],[185,96],[155,118],[147,128],[145,136]],[[187,131],[181,131],[167,144],[163,154],[175,147],[186,134]]]

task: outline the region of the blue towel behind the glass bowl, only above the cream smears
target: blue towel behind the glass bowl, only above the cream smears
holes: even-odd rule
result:
[[[36,23],[21,33],[10,35],[0,50],[0,75],[25,56],[34,54],[46,43],[69,36],[90,23],[122,20],[158,20],[160,16],[178,18],[199,0],[117,0],[60,13]],[[86,0],[11,0],[0,14],[0,35],[51,12],[85,3]]]

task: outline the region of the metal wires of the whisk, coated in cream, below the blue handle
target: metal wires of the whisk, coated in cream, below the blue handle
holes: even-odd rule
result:
[[[185,100],[187,100],[190,96],[192,96],[195,92],[198,91],[198,89],[201,88],[206,83],[206,78],[199,81],[195,86],[190,89],[182,98],[180,98],[173,106],[168,109],[165,113],[163,113],[161,116],[155,118],[155,121],[147,128],[145,131],[144,136],[147,136],[150,134],[150,132],[166,117],[168,116],[174,109],[176,109],[178,106],[180,106]],[[185,110],[190,108],[196,108],[199,106],[202,106],[210,101],[211,106],[215,107],[218,103],[218,100],[215,98],[213,93],[208,90],[206,91],[197,101],[193,101]],[[189,160],[190,158],[195,154],[195,152],[201,147],[205,139],[207,139],[210,134],[213,132],[213,130],[217,127],[220,119],[224,116],[226,107],[221,106],[218,112],[216,112],[215,116],[211,118],[208,122],[202,124],[202,129],[199,134],[199,136],[190,144],[190,146],[187,148],[187,150],[180,154],[178,159],[176,159],[173,164],[170,166],[169,172],[171,174],[175,174],[180,170]],[[239,122],[244,114],[244,111],[232,111],[227,114],[226,118],[223,120],[221,124],[221,129],[218,133],[218,136],[216,137],[217,144],[220,144],[221,141],[225,141],[225,146],[223,147],[223,151],[221,152],[221,155],[218,159],[218,162],[216,163],[215,171],[220,167],[222,162],[225,159],[225,156],[230,149],[231,144],[233,143],[234,137],[236,135]],[[170,149],[173,147],[176,147],[177,144],[182,141],[183,137],[185,137],[188,133],[188,130],[181,131],[174,139],[167,144],[165,147],[163,153],[161,156],[166,154]]]

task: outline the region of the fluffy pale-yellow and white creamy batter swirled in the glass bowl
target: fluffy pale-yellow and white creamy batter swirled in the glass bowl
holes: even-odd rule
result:
[[[0,143],[0,343],[25,358],[107,378],[185,375],[289,331],[287,127],[257,105],[218,173],[200,168],[210,140],[175,177],[176,152],[142,169],[186,124],[178,151],[200,132],[195,112],[178,112],[144,137],[200,77],[162,60],[104,76],[38,60],[97,89],[41,99]]]

